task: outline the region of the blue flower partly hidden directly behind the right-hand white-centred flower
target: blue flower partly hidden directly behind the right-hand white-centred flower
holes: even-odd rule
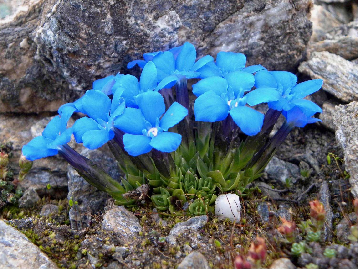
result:
[[[234,71],[243,71],[253,74],[259,70],[266,70],[262,65],[245,67],[246,56],[242,53],[221,51],[216,56],[216,62],[208,62],[198,69],[200,79],[211,76],[225,77]]]

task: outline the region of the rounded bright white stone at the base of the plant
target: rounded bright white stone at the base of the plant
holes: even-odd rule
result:
[[[232,221],[240,221],[240,197],[234,193],[219,195],[215,200],[215,216],[222,220],[229,218]]]

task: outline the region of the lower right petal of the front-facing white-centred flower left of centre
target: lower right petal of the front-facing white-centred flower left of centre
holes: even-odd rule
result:
[[[179,133],[162,132],[150,141],[150,145],[156,150],[162,152],[175,151],[182,142],[182,136]]]

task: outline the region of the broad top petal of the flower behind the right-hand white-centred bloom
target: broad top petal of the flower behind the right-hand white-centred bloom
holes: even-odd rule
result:
[[[221,51],[216,56],[216,65],[223,73],[242,70],[246,64],[246,56],[242,53]]]

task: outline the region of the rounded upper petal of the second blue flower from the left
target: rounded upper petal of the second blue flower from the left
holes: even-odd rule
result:
[[[111,109],[111,99],[98,90],[88,90],[82,98],[82,111],[92,119],[107,122]]]

